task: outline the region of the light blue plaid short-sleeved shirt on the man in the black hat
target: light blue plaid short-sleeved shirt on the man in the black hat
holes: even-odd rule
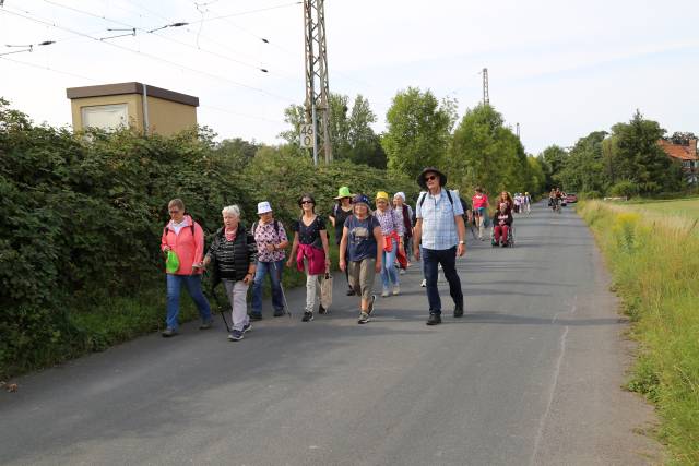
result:
[[[420,200],[425,198],[422,203]],[[449,196],[445,189],[438,195],[429,192],[420,193],[415,206],[415,217],[423,219],[423,248],[445,250],[457,246],[459,242],[459,231],[457,230],[457,215],[463,215],[459,193],[451,191],[453,205],[449,202]]]

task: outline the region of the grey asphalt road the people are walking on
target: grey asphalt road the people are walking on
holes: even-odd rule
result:
[[[466,315],[425,325],[419,265],[356,323],[327,315],[139,338],[0,394],[2,464],[639,465],[652,409],[620,389],[629,359],[593,239],[572,211],[517,217],[517,247],[470,241]],[[377,277],[377,285],[379,278]]]

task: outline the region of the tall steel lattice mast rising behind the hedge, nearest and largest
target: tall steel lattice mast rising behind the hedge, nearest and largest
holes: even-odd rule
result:
[[[313,126],[313,163],[319,155],[332,162],[330,144],[330,86],[325,46],[324,0],[304,0],[306,32],[306,122]]]

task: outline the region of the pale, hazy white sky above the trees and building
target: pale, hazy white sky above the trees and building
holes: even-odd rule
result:
[[[304,101],[295,1],[0,4],[0,53],[56,40],[0,56],[0,96],[37,123],[70,124],[68,87],[138,81],[199,97],[198,121],[220,139],[276,144],[284,108]],[[365,96],[381,132],[408,86],[455,98],[461,119],[483,98],[487,68],[490,105],[520,123],[530,154],[637,109],[668,133],[699,133],[697,13],[697,0],[327,0],[330,91]],[[177,22],[189,24],[149,33]]]

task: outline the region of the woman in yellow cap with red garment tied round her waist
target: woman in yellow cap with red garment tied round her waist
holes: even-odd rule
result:
[[[403,234],[405,227],[395,214],[395,211],[389,206],[389,194],[379,191],[376,194],[376,211],[374,216],[381,224],[381,234],[383,235],[383,258],[381,268],[381,283],[383,285],[382,297],[388,297],[390,292],[398,295],[401,292],[401,286],[395,268],[395,258],[399,248],[403,248]],[[391,286],[393,287],[391,290]]]

